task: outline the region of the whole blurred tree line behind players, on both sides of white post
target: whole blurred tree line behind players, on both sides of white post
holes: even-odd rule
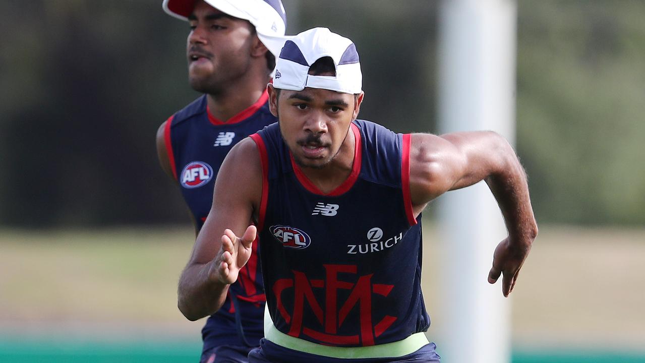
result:
[[[435,130],[437,1],[283,0],[355,41],[361,118]],[[517,150],[540,222],[645,221],[645,2],[519,1]],[[0,224],[186,223],[159,124],[198,94],[161,0],[0,3]]]

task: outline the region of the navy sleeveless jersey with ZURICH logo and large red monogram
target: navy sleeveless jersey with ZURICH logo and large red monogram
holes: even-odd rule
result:
[[[251,136],[264,171],[261,262],[275,328],[317,344],[373,346],[430,326],[421,215],[410,201],[410,135],[362,120],[351,130],[352,173],[326,195],[295,164],[277,124]]]

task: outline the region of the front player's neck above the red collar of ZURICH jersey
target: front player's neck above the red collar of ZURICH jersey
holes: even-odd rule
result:
[[[342,142],[341,150],[328,165],[321,169],[301,167],[301,172],[320,191],[325,194],[330,193],[341,186],[352,174],[355,145],[356,139],[350,127],[345,141]]]

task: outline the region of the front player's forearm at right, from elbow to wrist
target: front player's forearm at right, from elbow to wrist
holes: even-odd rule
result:
[[[499,166],[486,177],[486,184],[497,200],[510,241],[517,247],[530,248],[537,236],[537,223],[531,207],[526,173],[515,151],[502,137],[499,137],[497,155]]]

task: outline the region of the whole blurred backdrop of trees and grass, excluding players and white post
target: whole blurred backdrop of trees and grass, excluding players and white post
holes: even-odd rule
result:
[[[436,130],[438,1],[283,2],[288,34],[355,41],[361,118]],[[645,1],[517,6],[517,152],[541,235],[513,362],[645,362]],[[194,235],[154,142],[197,97],[187,34],[161,0],[0,2],[1,362],[199,355],[203,322],[175,306]]]

